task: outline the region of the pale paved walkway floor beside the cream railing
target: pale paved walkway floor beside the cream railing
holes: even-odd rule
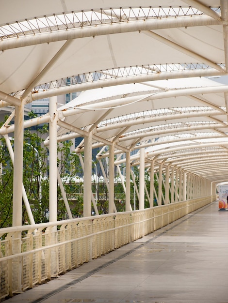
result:
[[[227,232],[216,201],[5,303],[227,303]]]

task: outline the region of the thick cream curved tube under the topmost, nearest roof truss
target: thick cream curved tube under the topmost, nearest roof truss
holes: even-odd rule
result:
[[[72,28],[69,30],[58,30],[52,32],[41,32],[39,34],[16,36],[11,39],[0,41],[0,50],[4,51],[16,47],[30,45],[39,45],[57,41],[71,39],[96,37],[123,32],[133,32],[141,30],[161,30],[167,28],[192,27],[192,26],[210,26],[222,24],[221,21],[213,19],[211,16],[184,16],[178,18],[161,18],[147,20],[130,20],[128,22],[118,22],[111,24],[102,24],[91,27]]]

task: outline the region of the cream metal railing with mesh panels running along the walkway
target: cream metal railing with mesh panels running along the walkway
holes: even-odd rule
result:
[[[216,195],[133,212],[0,229],[0,299],[33,288],[193,212]]]

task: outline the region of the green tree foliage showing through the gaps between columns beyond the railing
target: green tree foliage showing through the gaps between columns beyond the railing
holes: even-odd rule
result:
[[[30,113],[33,118],[34,114]],[[35,223],[49,221],[49,149],[44,144],[44,139],[48,136],[48,125],[36,126],[24,131],[24,162],[23,162],[23,184],[27,194],[30,207],[32,209]],[[12,146],[14,139],[11,140]],[[65,141],[57,147],[57,166],[65,188],[65,194],[70,204],[73,217],[83,214],[83,183],[76,180],[76,176],[82,176],[82,169],[78,155],[73,152],[72,141]],[[98,162],[93,161],[96,167],[98,182],[92,184],[92,191],[99,214],[108,213],[108,188],[105,182],[100,181],[102,176]],[[4,138],[0,138],[0,228],[12,226],[12,204],[13,204],[13,165]],[[108,170],[108,166],[104,169]],[[135,182],[139,188],[139,170],[134,170]],[[115,174],[117,176],[117,174]],[[149,175],[145,173],[145,184],[149,191]],[[158,187],[155,178],[154,186]],[[133,182],[130,186],[131,207],[139,207],[139,200],[134,190]],[[121,182],[114,184],[114,202],[117,212],[125,211],[125,192]],[[60,187],[57,188],[57,220],[68,218],[65,201]],[[154,206],[156,206],[154,198]],[[148,197],[145,193],[145,207],[149,207]],[[95,209],[92,206],[92,213]],[[22,224],[30,224],[30,220],[23,204]]]

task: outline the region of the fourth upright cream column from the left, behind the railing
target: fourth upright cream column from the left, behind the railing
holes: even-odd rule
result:
[[[109,146],[109,213],[114,212],[114,144]]]

